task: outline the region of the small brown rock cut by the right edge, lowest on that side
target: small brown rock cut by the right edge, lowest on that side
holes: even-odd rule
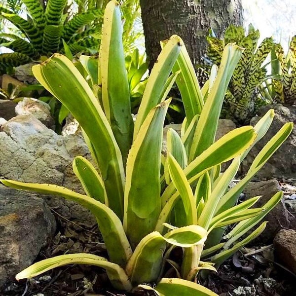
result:
[[[292,272],[296,273],[296,231],[282,229],[273,241],[278,259]]]

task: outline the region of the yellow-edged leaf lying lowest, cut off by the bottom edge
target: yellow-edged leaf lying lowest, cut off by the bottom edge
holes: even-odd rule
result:
[[[148,285],[139,285],[139,287],[154,291],[158,296],[218,296],[218,294],[201,285],[178,278],[162,278],[155,288]]]

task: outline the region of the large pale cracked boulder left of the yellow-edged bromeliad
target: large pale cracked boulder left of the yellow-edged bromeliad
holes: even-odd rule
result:
[[[0,176],[27,183],[49,183],[83,193],[72,171],[74,156],[90,158],[80,135],[66,137],[48,129],[33,115],[18,115],[0,129]],[[95,223],[93,215],[60,197],[44,197],[66,219]]]

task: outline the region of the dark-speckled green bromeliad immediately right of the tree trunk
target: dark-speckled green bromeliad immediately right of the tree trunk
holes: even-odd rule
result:
[[[243,27],[230,25],[225,31],[224,39],[207,37],[208,57],[218,66],[225,44],[236,42],[245,48],[231,77],[223,106],[224,116],[240,124],[248,122],[259,107],[270,103],[259,96],[258,88],[268,78],[267,70],[262,64],[272,49],[273,40],[271,37],[265,38],[258,46],[259,36],[259,31],[252,25],[249,26],[247,36]]]

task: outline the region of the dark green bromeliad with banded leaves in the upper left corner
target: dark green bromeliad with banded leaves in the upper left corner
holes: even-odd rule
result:
[[[49,0],[45,7],[39,0],[22,2],[27,8],[27,19],[0,4],[0,18],[9,21],[20,31],[19,35],[0,34],[0,46],[14,51],[0,55],[0,73],[5,73],[6,68],[37,60],[40,56],[63,52],[63,40],[74,54],[97,49],[101,28],[86,31],[83,28],[94,20],[102,19],[102,9],[77,13],[68,21],[67,14],[64,14],[67,0]]]

